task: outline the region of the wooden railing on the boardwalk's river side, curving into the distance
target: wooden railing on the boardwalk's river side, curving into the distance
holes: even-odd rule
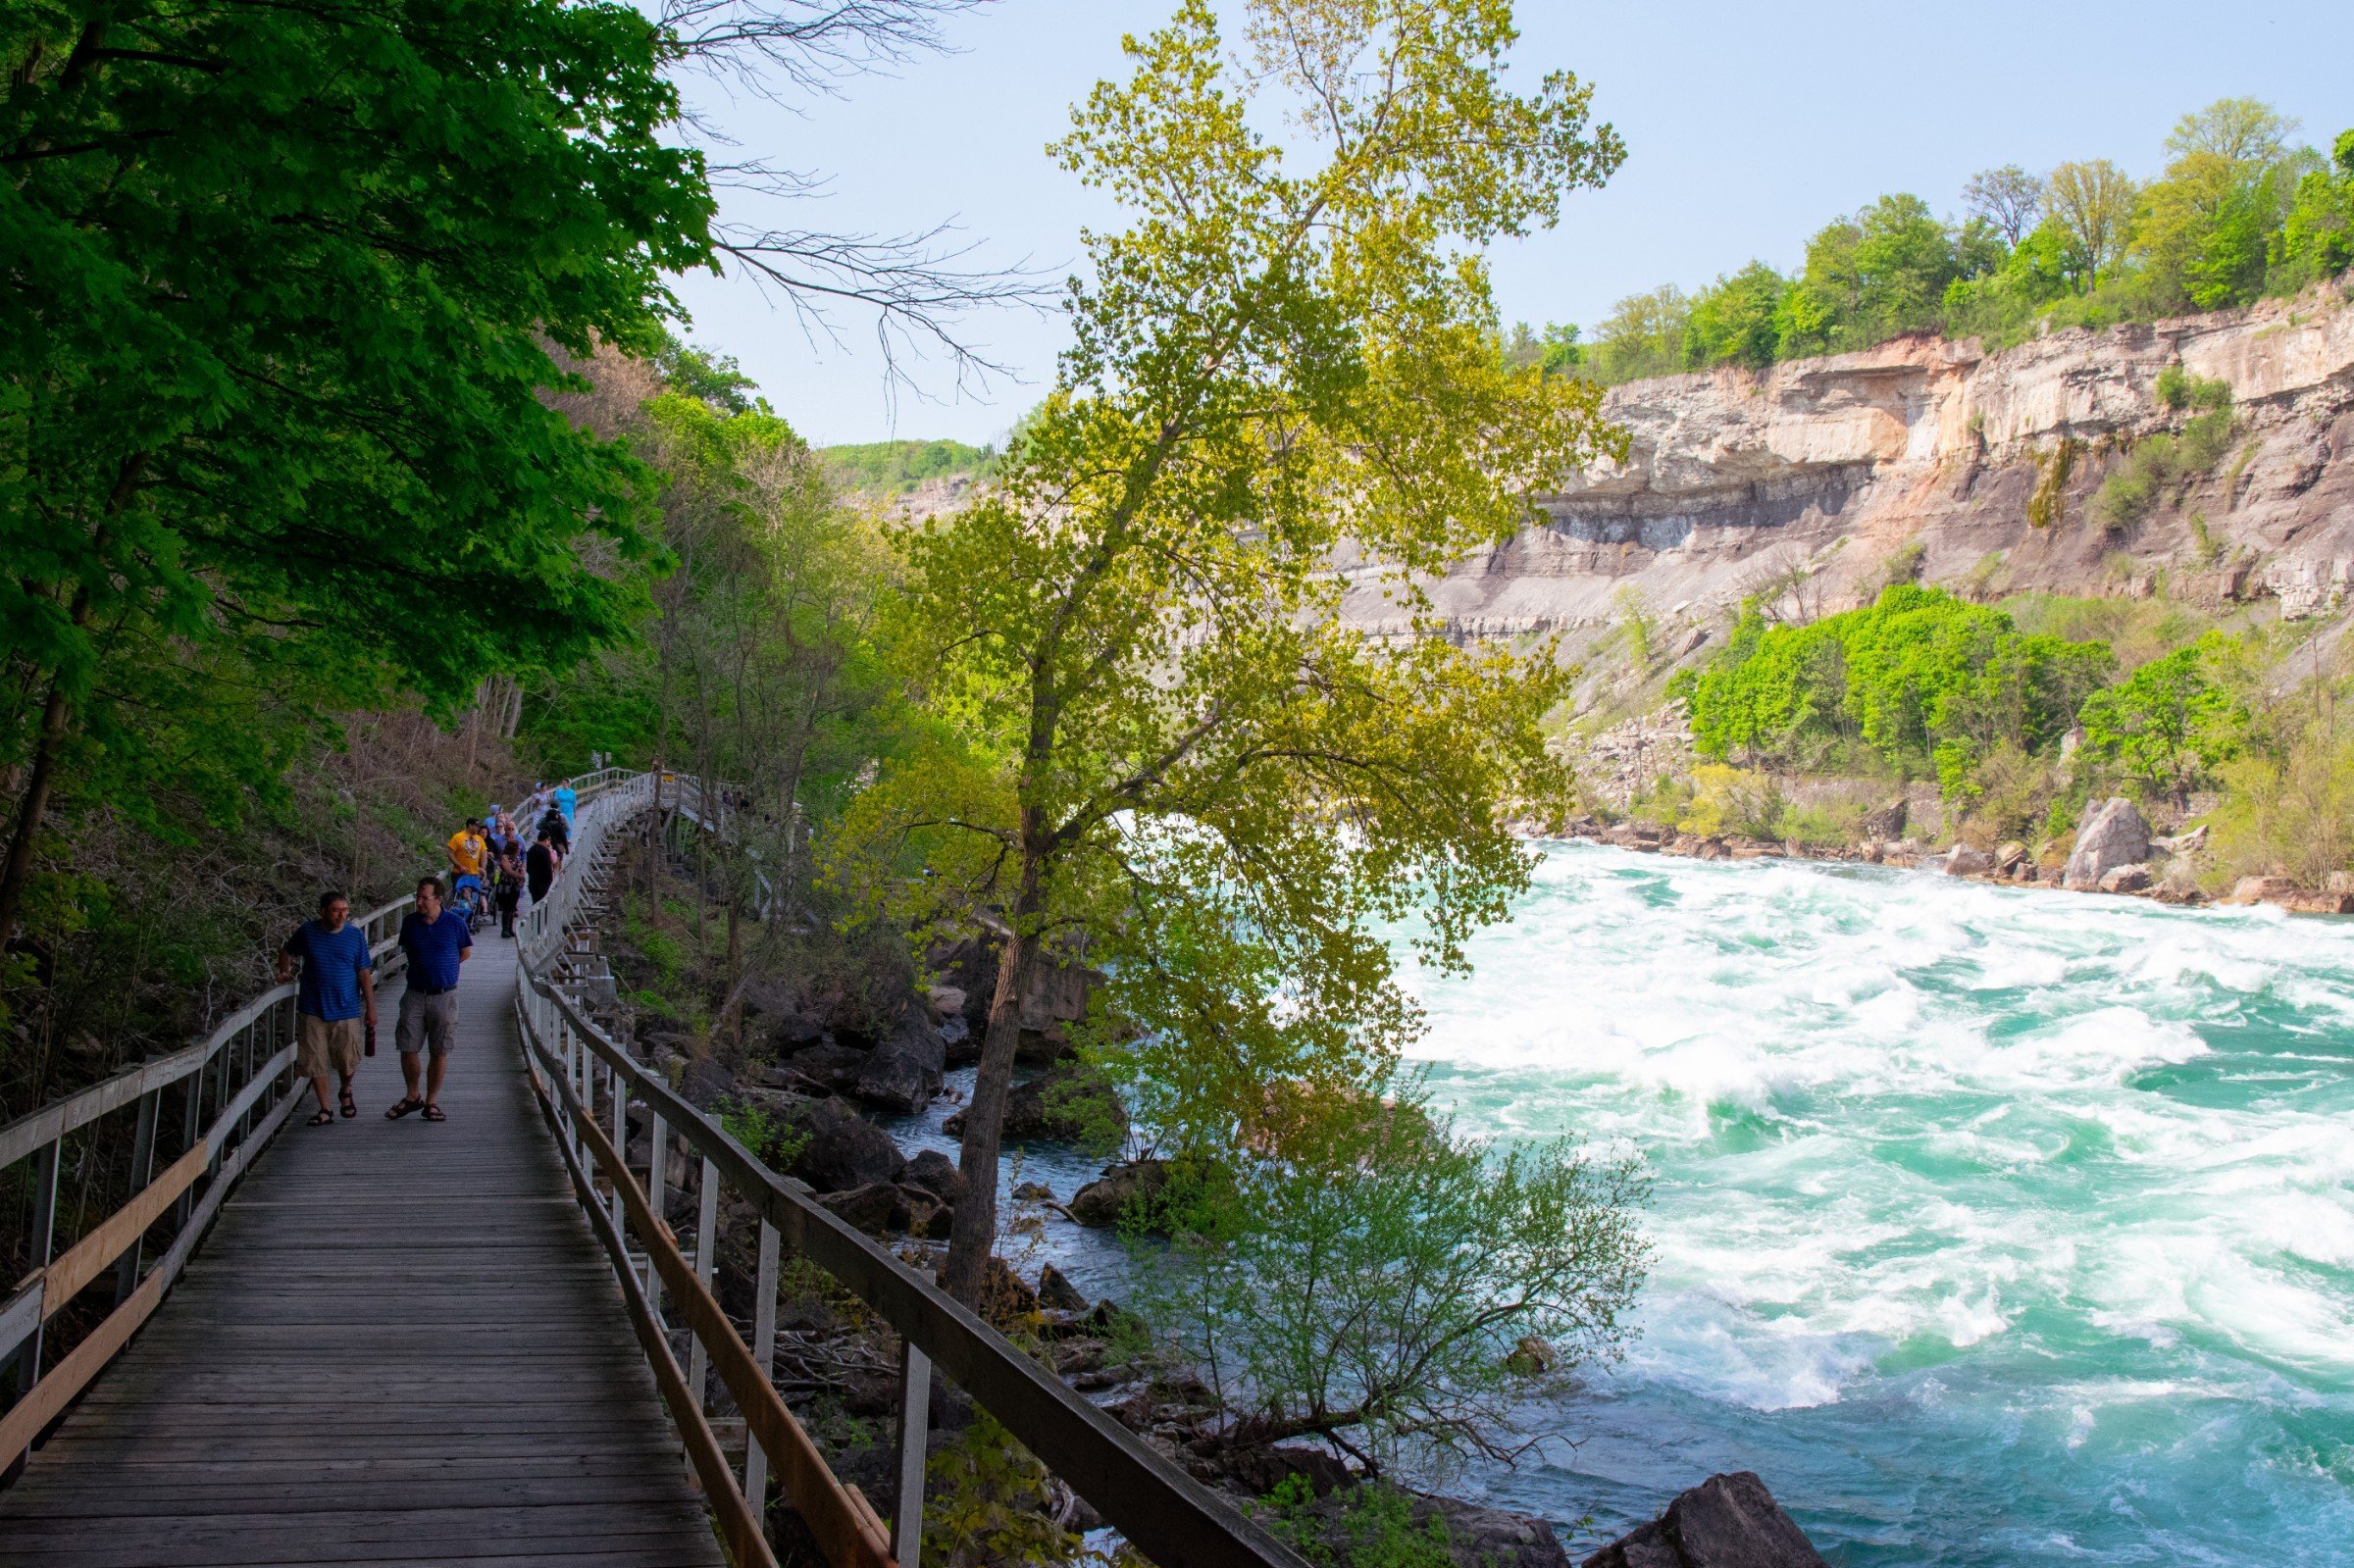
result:
[[[697,796],[692,779],[671,779],[614,786],[607,810],[593,817],[584,810],[574,845],[586,857],[588,873],[579,878],[574,897],[596,890],[600,850],[631,812],[685,808],[704,817]],[[723,817],[709,812],[709,826],[718,831]],[[892,1561],[897,1568],[920,1568],[935,1366],[1161,1568],[1304,1568],[1304,1559],[1231,1502],[1097,1410],[878,1241],[822,1208],[807,1187],[770,1170],[671,1090],[661,1074],[631,1057],[574,996],[577,961],[586,946],[586,932],[572,937],[558,928],[541,932],[525,951],[516,1010],[532,1088],[558,1132],[574,1194],[612,1257],[638,1340],[737,1568],[774,1563],[763,1528],[770,1474],[833,1568],[885,1568]],[[624,1158],[631,1104],[643,1107],[652,1123],[643,1184],[638,1168]],[[701,1161],[692,1262],[661,1220],[671,1191],[666,1151],[673,1132]],[[711,1293],[723,1187],[760,1215],[751,1342]],[[866,1497],[836,1481],[774,1389],[770,1366],[784,1248],[840,1281],[899,1333],[899,1462],[887,1540]],[[673,1318],[690,1333],[685,1373],[671,1351]],[[720,1375],[744,1415],[749,1436],[742,1481],[730,1471],[704,1410],[706,1368]]]

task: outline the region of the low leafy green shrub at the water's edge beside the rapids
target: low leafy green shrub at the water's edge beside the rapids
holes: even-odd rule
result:
[[[1377,1467],[1504,1455],[1523,1337],[1565,1377],[1629,1335],[1648,1264],[1631,1161],[1497,1149],[1384,1081],[1271,1095],[1233,1187],[1179,1215],[1151,1316],[1269,1441],[1316,1434]]]

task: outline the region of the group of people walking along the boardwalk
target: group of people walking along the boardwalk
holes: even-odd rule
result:
[[[534,822],[530,841],[516,831],[513,815],[492,805],[450,833],[450,885],[438,876],[417,881],[417,906],[400,921],[407,986],[393,1024],[405,1092],[384,1111],[386,1121],[419,1111],[424,1121],[450,1121],[440,1090],[457,1043],[459,970],[473,958],[476,916],[487,913],[480,899],[497,909],[499,935],[513,939],[523,895],[541,902],[563,873],[577,810],[570,784],[539,784],[520,808],[523,819]],[[341,892],[322,895],[318,918],[304,921],[278,949],[278,982],[294,979],[297,970],[294,1074],[318,1095],[311,1125],[325,1128],[337,1116],[360,1114],[351,1083],[360,1057],[377,1055],[377,961]],[[334,1095],[330,1078],[341,1081]]]

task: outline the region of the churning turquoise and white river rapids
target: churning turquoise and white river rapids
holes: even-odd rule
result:
[[[2354,921],[1549,845],[1471,961],[1438,1102],[1657,1182],[1469,1479],[1572,1556],[1756,1469],[1841,1566],[2354,1563]]]

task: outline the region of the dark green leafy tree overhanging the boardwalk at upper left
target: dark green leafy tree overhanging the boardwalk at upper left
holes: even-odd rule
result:
[[[226,817],[322,706],[626,633],[647,473],[548,344],[652,348],[711,198],[626,5],[56,0],[0,52],[5,937],[61,779]]]

